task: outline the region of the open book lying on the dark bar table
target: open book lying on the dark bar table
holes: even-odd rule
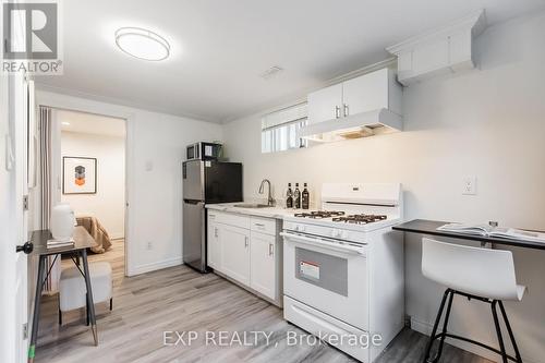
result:
[[[545,243],[544,232],[526,231],[509,227],[492,227],[488,225],[447,223],[437,228],[438,231],[495,237],[511,240],[523,240]]]

